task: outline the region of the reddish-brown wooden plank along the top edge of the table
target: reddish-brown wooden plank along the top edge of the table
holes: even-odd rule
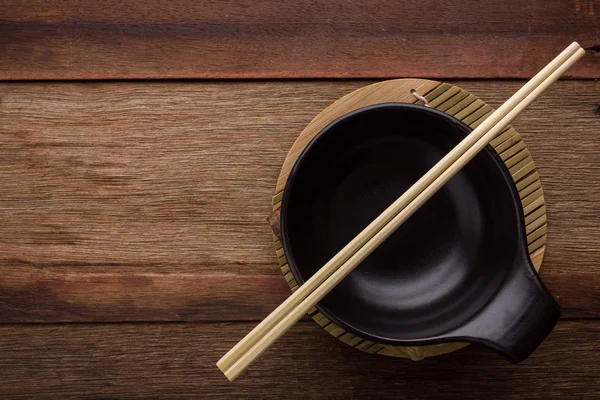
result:
[[[0,1],[0,79],[529,78],[572,41],[600,77],[600,1]]]

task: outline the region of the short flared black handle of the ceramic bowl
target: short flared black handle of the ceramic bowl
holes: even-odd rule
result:
[[[531,260],[526,255],[521,259],[484,310],[453,333],[465,341],[482,343],[515,363],[527,358],[560,318],[560,306]]]

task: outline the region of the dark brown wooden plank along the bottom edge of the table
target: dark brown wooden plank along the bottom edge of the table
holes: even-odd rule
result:
[[[418,362],[370,355],[306,321],[231,384],[215,362],[253,326],[0,327],[0,397],[595,400],[600,390],[597,321],[559,323],[519,365],[477,345]]]

